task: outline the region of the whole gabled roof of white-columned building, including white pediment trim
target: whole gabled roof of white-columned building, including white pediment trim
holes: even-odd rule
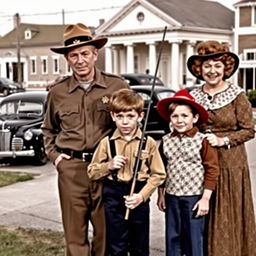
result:
[[[143,7],[161,19],[171,29],[178,30],[221,30],[232,31],[234,27],[234,11],[224,5],[208,0],[133,0],[121,9],[112,19],[97,29],[97,33],[104,35],[121,31],[115,28],[128,17],[136,8]],[[153,16],[152,16],[153,17]],[[159,23],[160,24],[160,23]],[[141,29],[143,26],[141,27]],[[145,30],[156,30],[156,25],[144,27]],[[137,27],[131,28],[138,30]],[[132,33],[132,30],[127,33]],[[142,29],[142,30],[143,30]],[[162,29],[162,27],[161,27]],[[140,31],[143,33],[143,31]],[[124,31],[123,31],[124,32]]]

